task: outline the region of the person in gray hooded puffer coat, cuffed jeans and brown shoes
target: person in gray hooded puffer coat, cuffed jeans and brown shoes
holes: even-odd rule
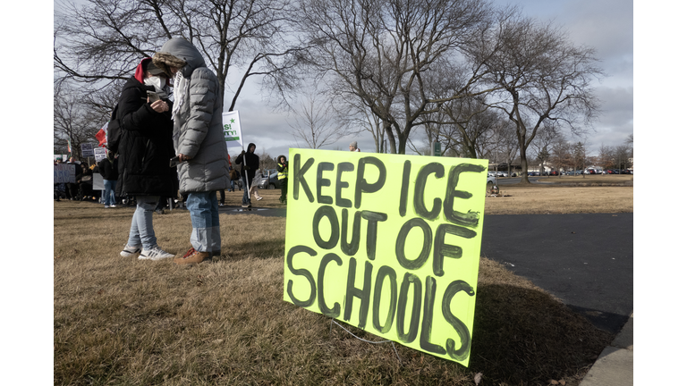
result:
[[[216,191],[231,185],[222,124],[224,90],[198,49],[184,38],[168,40],[153,63],[174,79],[174,151],[181,162],[179,190],[188,195],[193,228],[191,249],[174,263],[200,263],[222,248]]]

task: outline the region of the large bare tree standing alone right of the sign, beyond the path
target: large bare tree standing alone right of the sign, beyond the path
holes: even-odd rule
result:
[[[496,105],[515,123],[522,169],[539,130],[546,126],[584,132],[598,113],[592,80],[602,76],[592,48],[573,46],[564,32],[519,13],[504,13],[490,31],[495,55],[486,61]],[[489,50],[491,51],[491,49]],[[530,183],[523,175],[522,183]]]

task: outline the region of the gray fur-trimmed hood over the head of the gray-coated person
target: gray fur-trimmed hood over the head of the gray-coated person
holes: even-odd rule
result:
[[[170,78],[174,78],[170,67],[177,67],[184,78],[191,77],[193,70],[206,67],[203,55],[198,48],[185,38],[171,38],[167,40],[160,51],[153,55],[153,63]]]

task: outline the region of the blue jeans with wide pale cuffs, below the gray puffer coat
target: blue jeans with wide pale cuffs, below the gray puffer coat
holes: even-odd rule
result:
[[[199,252],[219,252],[222,239],[219,235],[219,206],[216,191],[191,192],[186,198],[191,214],[191,247]]]

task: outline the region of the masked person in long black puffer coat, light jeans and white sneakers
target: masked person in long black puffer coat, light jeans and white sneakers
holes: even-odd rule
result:
[[[148,96],[148,91],[152,97]],[[140,260],[174,257],[157,246],[153,211],[160,196],[174,196],[176,180],[169,159],[172,143],[172,102],[167,78],[152,59],[140,61],[136,72],[124,83],[119,97],[117,119],[122,138],[119,143],[119,174],[123,195],[136,197],[129,240],[120,255],[140,253]],[[151,99],[157,99],[155,101]]]

